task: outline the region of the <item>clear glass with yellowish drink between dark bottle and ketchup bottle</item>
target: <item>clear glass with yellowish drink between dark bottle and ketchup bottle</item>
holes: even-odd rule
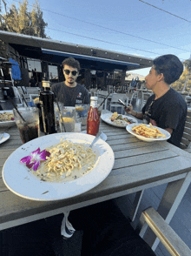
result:
[[[62,118],[59,118],[61,132],[75,132],[76,108],[65,106],[61,109],[61,114],[63,117],[63,122]]]

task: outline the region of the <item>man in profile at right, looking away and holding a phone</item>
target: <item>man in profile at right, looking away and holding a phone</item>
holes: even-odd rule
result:
[[[125,109],[128,114],[167,130],[171,134],[168,139],[179,146],[187,117],[187,104],[181,94],[170,87],[181,77],[183,64],[175,55],[168,54],[156,57],[153,66],[145,77],[148,90],[154,94],[148,98],[142,112],[133,111],[133,107]]]

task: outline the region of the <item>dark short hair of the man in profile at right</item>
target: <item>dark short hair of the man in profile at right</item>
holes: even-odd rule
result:
[[[157,74],[163,74],[164,82],[172,84],[181,77],[183,72],[183,64],[181,60],[173,54],[162,55],[156,57],[153,61]]]

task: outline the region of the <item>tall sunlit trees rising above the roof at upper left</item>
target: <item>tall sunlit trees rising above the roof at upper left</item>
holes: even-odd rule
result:
[[[9,11],[5,0],[3,0],[3,5],[5,13],[0,14],[0,30],[47,38],[45,28],[48,24],[43,20],[43,11],[37,0],[31,11],[27,0],[19,3],[18,9],[15,3],[11,4]]]

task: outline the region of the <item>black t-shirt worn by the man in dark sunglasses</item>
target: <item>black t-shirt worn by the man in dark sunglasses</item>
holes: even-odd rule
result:
[[[64,106],[75,106],[75,104],[89,104],[89,91],[81,84],[69,87],[64,82],[52,84],[51,91],[55,93],[58,102]]]

